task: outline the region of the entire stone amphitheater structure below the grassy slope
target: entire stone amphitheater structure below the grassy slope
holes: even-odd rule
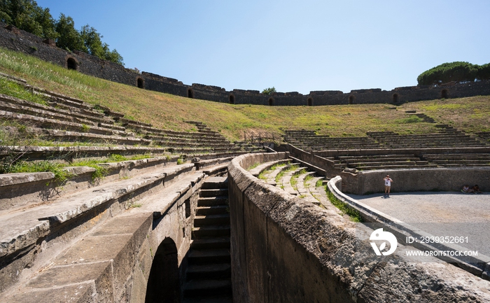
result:
[[[489,133],[289,130],[262,148],[2,76],[48,99],[0,95],[18,125],[5,130],[52,143],[0,146],[3,164],[64,166],[0,175],[0,302],[490,302],[490,258],[354,258],[356,223],[331,202],[402,239],[406,226],[344,193],[380,192],[387,171],[399,191],[488,191]]]

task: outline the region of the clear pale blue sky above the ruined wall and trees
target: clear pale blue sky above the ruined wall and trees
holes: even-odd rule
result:
[[[226,90],[392,90],[444,62],[490,62],[489,0],[37,3],[90,24],[128,68]]]

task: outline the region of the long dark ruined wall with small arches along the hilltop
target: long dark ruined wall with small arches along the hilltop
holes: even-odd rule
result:
[[[409,101],[421,101],[440,98],[471,97],[490,95],[490,81],[465,84],[447,84],[437,86],[397,87],[386,91],[379,88],[369,90],[312,91],[307,95],[298,92],[276,92],[272,95],[261,94],[258,90],[232,90],[222,87],[194,83],[185,85],[179,80],[156,75],[137,73],[132,69],[84,52],[69,52],[57,48],[53,41],[43,39],[26,31],[7,27],[0,22],[0,46],[33,55],[48,62],[76,69],[90,76],[133,85],[146,90],[165,92],[182,97],[204,99],[230,104],[255,104],[269,106],[319,106],[332,104],[399,104]]]

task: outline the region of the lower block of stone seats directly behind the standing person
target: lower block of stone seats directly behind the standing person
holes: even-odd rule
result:
[[[373,169],[406,169],[437,167],[436,163],[421,160],[414,155],[369,155],[369,156],[338,156],[336,168],[351,168],[358,170]]]

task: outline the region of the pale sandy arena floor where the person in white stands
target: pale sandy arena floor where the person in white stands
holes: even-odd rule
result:
[[[468,237],[465,248],[490,256],[490,192],[395,192],[349,195],[436,237]]]

